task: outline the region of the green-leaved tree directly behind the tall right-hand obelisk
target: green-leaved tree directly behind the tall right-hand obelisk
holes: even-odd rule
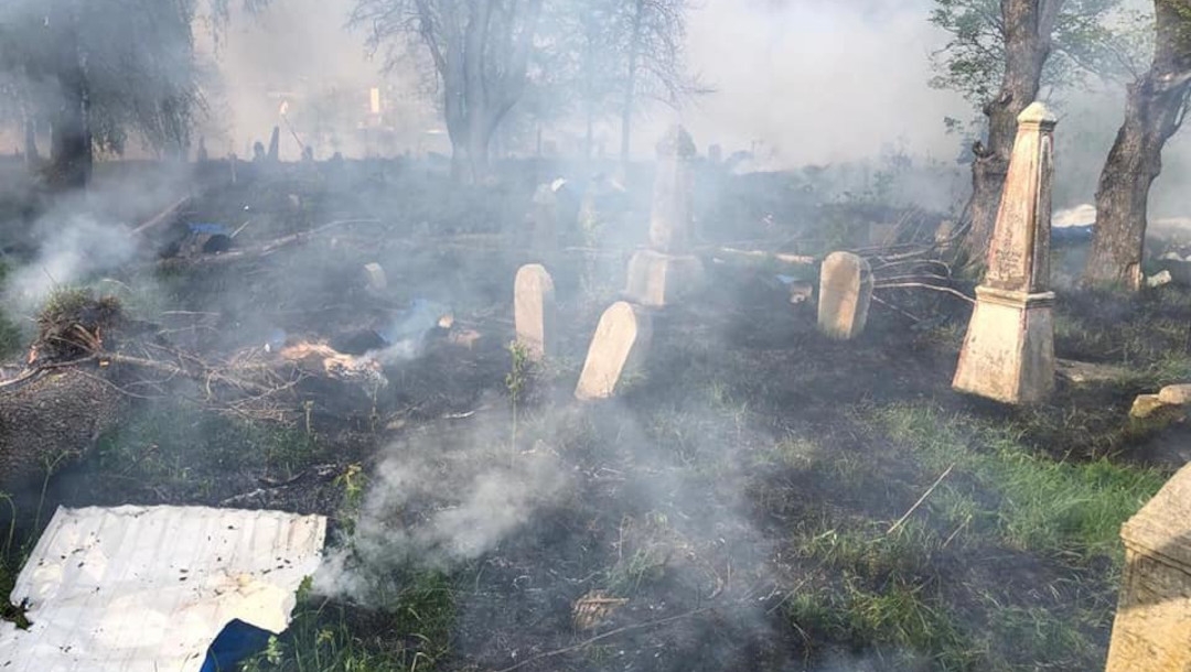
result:
[[[1106,17],[1118,0],[936,0],[930,21],[952,34],[936,54],[936,88],[960,92],[985,118],[972,145],[965,250],[983,264],[1000,207],[1017,115],[1043,82],[1112,74],[1127,61]],[[1052,58],[1052,55],[1056,56]]]

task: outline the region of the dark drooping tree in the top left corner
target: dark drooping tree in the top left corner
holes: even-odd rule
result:
[[[201,106],[194,63],[198,0],[15,0],[0,8],[0,71],[24,121],[51,134],[49,182],[87,184],[95,150],[130,133],[186,151]],[[256,7],[262,0],[245,0]],[[229,0],[210,0],[226,19]],[[218,23],[216,24],[218,25]]]

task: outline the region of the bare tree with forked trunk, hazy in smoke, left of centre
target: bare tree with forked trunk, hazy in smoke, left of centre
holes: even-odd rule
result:
[[[525,90],[542,0],[357,0],[353,24],[367,25],[389,64],[412,44],[429,54],[442,84],[451,171],[488,174],[492,136]]]

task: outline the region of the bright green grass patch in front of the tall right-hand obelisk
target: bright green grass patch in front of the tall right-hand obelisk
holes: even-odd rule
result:
[[[990,527],[1022,551],[1118,559],[1121,525],[1165,483],[1156,470],[1108,459],[1056,461],[1025,447],[1015,428],[930,406],[866,414],[924,470],[955,465],[943,496],[928,501],[934,511],[955,525],[974,519],[973,529]]]

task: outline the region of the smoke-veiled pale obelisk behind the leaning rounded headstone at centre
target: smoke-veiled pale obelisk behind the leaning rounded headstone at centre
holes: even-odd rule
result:
[[[681,126],[673,126],[657,144],[649,249],[630,259],[624,293],[635,303],[653,308],[669,306],[703,281],[703,262],[690,253],[694,156],[694,140]]]

